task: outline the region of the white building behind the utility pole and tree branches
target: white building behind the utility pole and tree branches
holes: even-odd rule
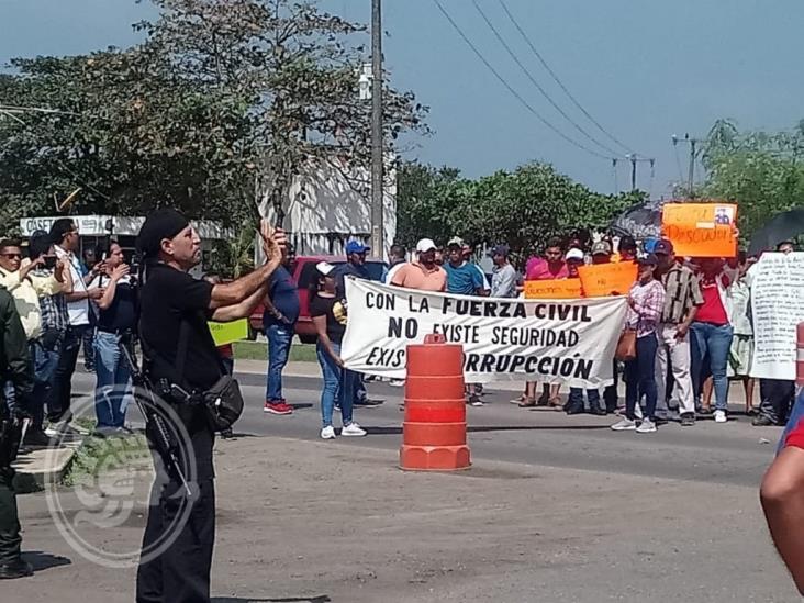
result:
[[[351,238],[371,241],[371,174],[367,169],[347,171],[337,159],[310,165],[294,178],[284,202],[283,228],[298,255],[340,255]],[[388,257],[397,236],[397,172],[386,168],[383,231],[386,249],[370,255]],[[275,221],[276,213],[266,191],[258,191],[260,214]],[[256,248],[259,250],[260,246]]]

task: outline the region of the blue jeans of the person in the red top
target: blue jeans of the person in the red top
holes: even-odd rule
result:
[[[690,326],[690,331],[695,338],[695,345],[692,346],[693,391],[701,391],[703,376],[708,368],[715,390],[715,409],[726,411],[728,410],[726,362],[728,362],[728,350],[732,348],[734,330],[728,324],[718,326],[694,322]],[[706,357],[708,357],[708,366],[704,367]]]

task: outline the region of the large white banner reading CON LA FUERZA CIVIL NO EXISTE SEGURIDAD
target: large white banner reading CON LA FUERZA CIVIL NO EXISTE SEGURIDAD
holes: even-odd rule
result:
[[[532,379],[598,388],[612,383],[625,298],[524,300],[449,295],[347,278],[347,368],[405,377],[407,345],[428,333],[462,344],[469,382]]]

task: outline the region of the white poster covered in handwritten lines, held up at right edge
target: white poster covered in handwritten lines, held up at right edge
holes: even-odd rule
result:
[[[751,377],[795,379],[795,327],[804,321],[804,253],[762,254],[748,271]]]

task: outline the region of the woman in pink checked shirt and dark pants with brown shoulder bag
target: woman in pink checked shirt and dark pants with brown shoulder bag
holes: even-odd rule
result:
[[[656,432],[656,379],[654,362],[659,347],[656,327],[665,309],[665,286],[654,278],[658,264],[655,255],[640,258],[639,276],[628,294],[625,323],[636,331],[636,357],[625,362],[625,417],[612,425],[615,432],[636,429],[639,434]],[[645,395],[645,418],[637,426],[636,405]]]

